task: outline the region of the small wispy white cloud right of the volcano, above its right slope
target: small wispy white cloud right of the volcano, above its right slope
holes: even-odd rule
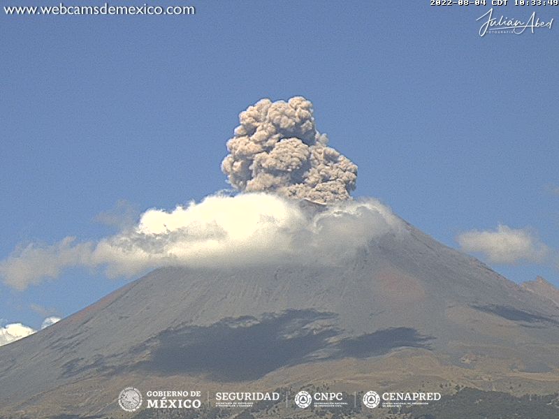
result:
[[[508,226],[467,231],[456,241],[463,251],[483,253],[493,263],[542,262],[549,255],[549,248],[530,230]]]

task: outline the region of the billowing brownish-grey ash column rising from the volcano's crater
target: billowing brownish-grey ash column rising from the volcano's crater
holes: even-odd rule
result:
[[[222,170],[240,191],[272,191],[317,203],[347,200],[357,166],[331,147],[314,126],[312,103],[262,99],[239,115]]]

